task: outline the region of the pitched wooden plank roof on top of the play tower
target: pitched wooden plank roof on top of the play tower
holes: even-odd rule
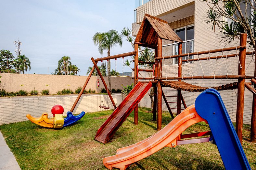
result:
[[[166,21],[145,14],[135,42],[157,46],[158,36],[162,39],[183,43]]]

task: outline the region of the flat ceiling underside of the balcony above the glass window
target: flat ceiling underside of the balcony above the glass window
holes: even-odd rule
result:
[[[166,14],[164,16],[160,16],[159,18],[170,23],[170,22],[182,19],[182,18],[186,18],[188,16],[192,16],[194,14],[195,14],[195,4],[189,5],[185,8],[179,9],[177,11]]]

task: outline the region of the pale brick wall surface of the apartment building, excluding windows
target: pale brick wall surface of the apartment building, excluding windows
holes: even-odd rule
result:
[[[167,11],[179,9],[182,5],[190,2],[191,1],[177,2],[175,0],[170,0],[170,1],[152,0],[149,3],[137,8],[137,21],[138,21],[137,23],[139,23],[142,20],[145,13],[150,14],[152,16],[161,16],[161,15],[164,15],[164,13],[166,13]],[[208,8],[206,3],[200,0],[195,0],[194,3],[195,3],[195,15],[194,15],[194,24],[195,24],[194,51],[195,52],[224,48],[224,47],[239,46],[239,42],[237,42],[237,40],[231,42],[228,45],[222,44],[222,42],[220,42],[221,38],[218,35],[220,34],[220,32],[218,32],[217,30],[216,32],[212,31],[210,25],[205,23],[205,20],[206,20],[205,16]],[[154,5],[154,7],[150,5]],[[190,25],[190,21],[187,21],[187,22],[188,22],[187,25]],[[163,42],[163,44],[168,44],[168,42]],[[247,49],[247,51],[251,51],[251,49]],[[224,55],[230,54],[230,53],[235,54],[235,52],[236,51],[224,52]],[[172,55],[172,53],[173,53],[172,47],[163,48],[163,52],[162,52],[163,56],[170,56]],[[211,56],[219,56],[219,55],[222,55],[222,54],[221,53],[211,54]],[[209,54],[201,55],[199,57],[206,57],[206,56],[208,57]],[[198,56],[194,56],[194,58],[198,58]],[[253,61],[251,62],[251,60],[252,60],[252,56],[246,57],[246,75],[248,76],[254,75],[254,62]],[[162,68],[163,77],[177,76],[177,65],[172,65],[171,64],[172,61],[170,59],[166,59],[165,62],[162,61],[162,63],[163,63],[163,68]],[[211,60],[211,61],[205,60],[201,62],[201,65],[198,61],[195,61],[195,63],[183,64],[182,75],[183,76],[213,75],[214,72],[215,72],[215,75],[226,75],[227,72],[229,75],[232,75],[232,74],[236,75],[237,68],[238,68],[238,59],[237,58],[229,58],[227,60],[219,59],[218,62],[216,62],[216,60]],[[228,69],[226,69],[226,67]],[[144,75],[144,76],[147,76],[147,75]],[[219,86],[219,85],[235,82],[237,80],[185,80],[185,81],[198,86],[213,87],[213,86]],[[246,80],[246,81],[249,81],[249,80]],[[177,95],[176,91],[164,91],[164,92],[165,92],[165,95]],[[182,94],[186,101],[186,105],[189,106],[194,104],[194,101],[196,97],[200,94],[200,92],[182,91]],[[235,122],[236,107],[237,107],[237,90],[220,91],[220,94],[222,96],[222,99],[230,115],[231,120]],[[168,99],[168,101],[174,101],[174,102],[176,102],[176,100],[177,100],[176,98]],[[162,101],[162,103],[163,103],[162,104],[163,110],[167,111],[167,107],[164,101]],[[171,107],[176,108],[176,104],[170,104],[170,105]],[[146,95],[141,100],[140,106],[149,107],[149,108],[151,107],[150,99],[148,95]],[[245,89],[243,122],[246,124],[250,124],[251,122],[251,108],[252,108],[252,93],[249,90]],[[173,112],[176,112],[176,111],[173,110]]]

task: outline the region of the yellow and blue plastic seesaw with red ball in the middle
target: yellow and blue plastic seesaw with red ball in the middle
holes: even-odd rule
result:
[[[30,114],[27,114],[26,117],[31,122],[38,124],[40,126],[47,127],[47,128],[59,129],[62,127],[72,125],[73,123],[80,120],[85,114],[85,112],[81,112],[79,115],[74,116],[72,114],[72,112],[67,112],[67,117],[63,118],[62,114],[64,112],[64,108],[59,104],[54,105],[52,107],[51,112],[53,114],[52,119],[48,118],[48,114],[46,112],[43,113],[42,116],[39,118],[35,118],[35,117],[31,116]]]

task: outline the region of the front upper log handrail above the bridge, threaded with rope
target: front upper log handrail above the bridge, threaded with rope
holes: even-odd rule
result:
[[[181,55],[173,55],[173,56],[165,56],[165,57],[157,57],[155,58],[156,60],[160,59],[168,59],[168,58],[178,58],[178,57],[188,57],[188,56],[194,56],[194,55],[201,55],[201,54],[209,54],[210,53],[217,53],[217,52],[222,52],[222,51],[232,51],[232,50],[242,50],[246,49],[246,45],[244,46],[237,46],[237,47],[229,47],[229,48],[220,48],[220,49],[213,49],[210,51],[200,51],[200,52],[193,52],[193,53],[186,53],[186,54],[181,54]]]

